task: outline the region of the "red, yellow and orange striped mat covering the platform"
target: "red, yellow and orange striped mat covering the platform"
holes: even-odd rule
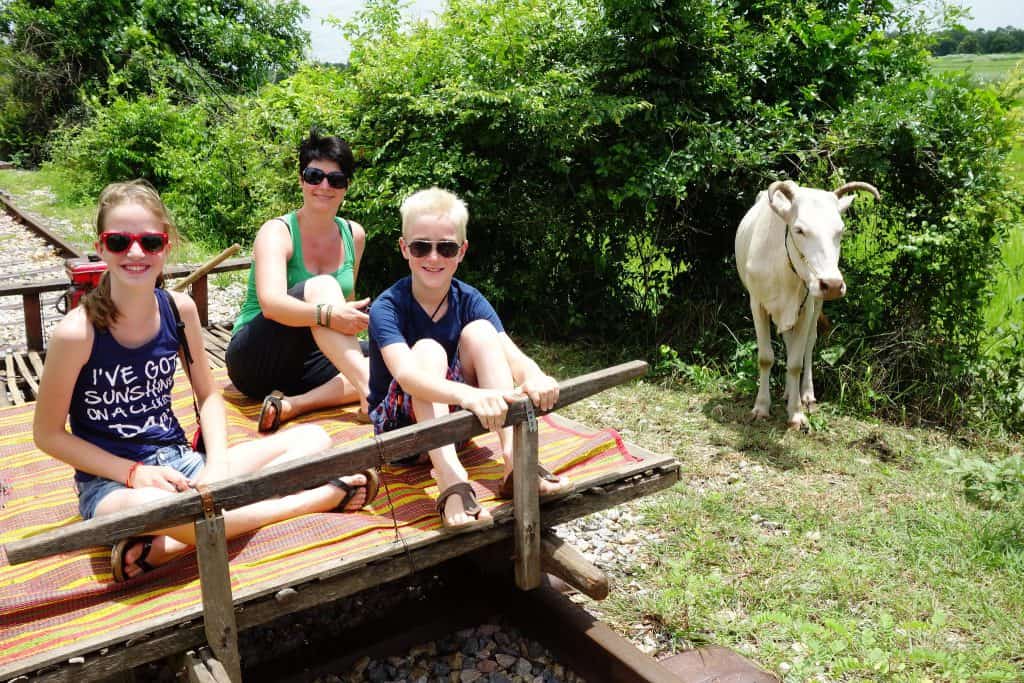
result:
[[[227,384],[223,369],[215,377]],[[229,443],[256,438],[259,403],[229,384],[224,397]],[[180,372],[173,404],[185,432],[191,433],[191,394]],[[33,407],[0,409],[0,484],[6,492],[0,509],[0,545],[80,519],[72,469],[40,453],[32,442]],[[371,428],[355,422],[354,410],[352,405],[322,411],[294,422],[319,424],[335,444],[371,437]],[[540,443],[541,462],[578,482],[639,460],[627,452],[615,432],[582,432],[551,416],[541,421]],[[497,454],[494,434],[476,437],[460,454],[480,503],[490,509],[511,505],[496,496],[502,476]],[[299,583],[322,570],[325,562],[337,563],[389,546],[395,541],[394,519],[407,542],[439,528],[434,511],[438,490],[429,467],[392,466],[382,479],[390,497],[382,486],[367,510],[305,515],[229,542],[234,595],[261,585]],[[81,639],[116,637],[143,624],[173,623],[201,602],[195,554],[119,585],[111,574],[110,548],[17,566],[10,566],[0,549],[0,668],[65,649]]]

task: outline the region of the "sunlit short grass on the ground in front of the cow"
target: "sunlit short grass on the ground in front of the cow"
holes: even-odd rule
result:
[[[950,438],[827,405],[817,431],[791,433],[777,399],[751,424],[753,398],[646,382],[568,411],[683,464],[682,483],[640,503],[646,561],[605,617],[680,649],[732,647],[785,680],[1021,680],[1024,516],[965,501],[938,464]]]

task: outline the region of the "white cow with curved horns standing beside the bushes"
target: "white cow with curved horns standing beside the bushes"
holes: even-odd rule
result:
[[[866,182],[848,182],[834,193],[801,187],[792,180],[773,182],[758,195],[736,230],[736,268],[751,295],[751,312],[758,335],[760,385],[751,412],[766,418],[771,410],[768,374],[775,355],[771,322],[785,341],[785,398],[790,427],[807,426],[805,410],[814,409],[811,353],[817,341],[817,319],[824,301],[846,294],[839,269],[842,214]],[[770,318],[770,321],[769,321]]]

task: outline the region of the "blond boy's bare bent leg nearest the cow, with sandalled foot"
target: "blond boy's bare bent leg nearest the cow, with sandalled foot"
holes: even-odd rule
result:
[[[466,382],[481,389],[503,389],[511,391],[514,386],[512,369],[502,350],[498,331],[486,321],[474,321],[467,325],[459,337],[459,358],[462,361]],[[498,432],[502,444],[502,459],[505,462],[505,476],[512,474],[512,428],[505,427]],[[570,486],[568,477],[558,481],[540,479],[541,495],[558,494]]]

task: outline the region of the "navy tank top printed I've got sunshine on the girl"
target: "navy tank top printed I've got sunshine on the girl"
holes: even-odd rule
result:
[[[125,348],[106,331],[95,330],[92,352],[71,396],[71,433],[122,458],[139,461],[163,444],[186,443],[171,411],[178,333],[170,294],[155,290],[160,331],[138,348]],[[144,439],[139,443],[130,439]],[[76,471],[75,479],[95,478]]]

